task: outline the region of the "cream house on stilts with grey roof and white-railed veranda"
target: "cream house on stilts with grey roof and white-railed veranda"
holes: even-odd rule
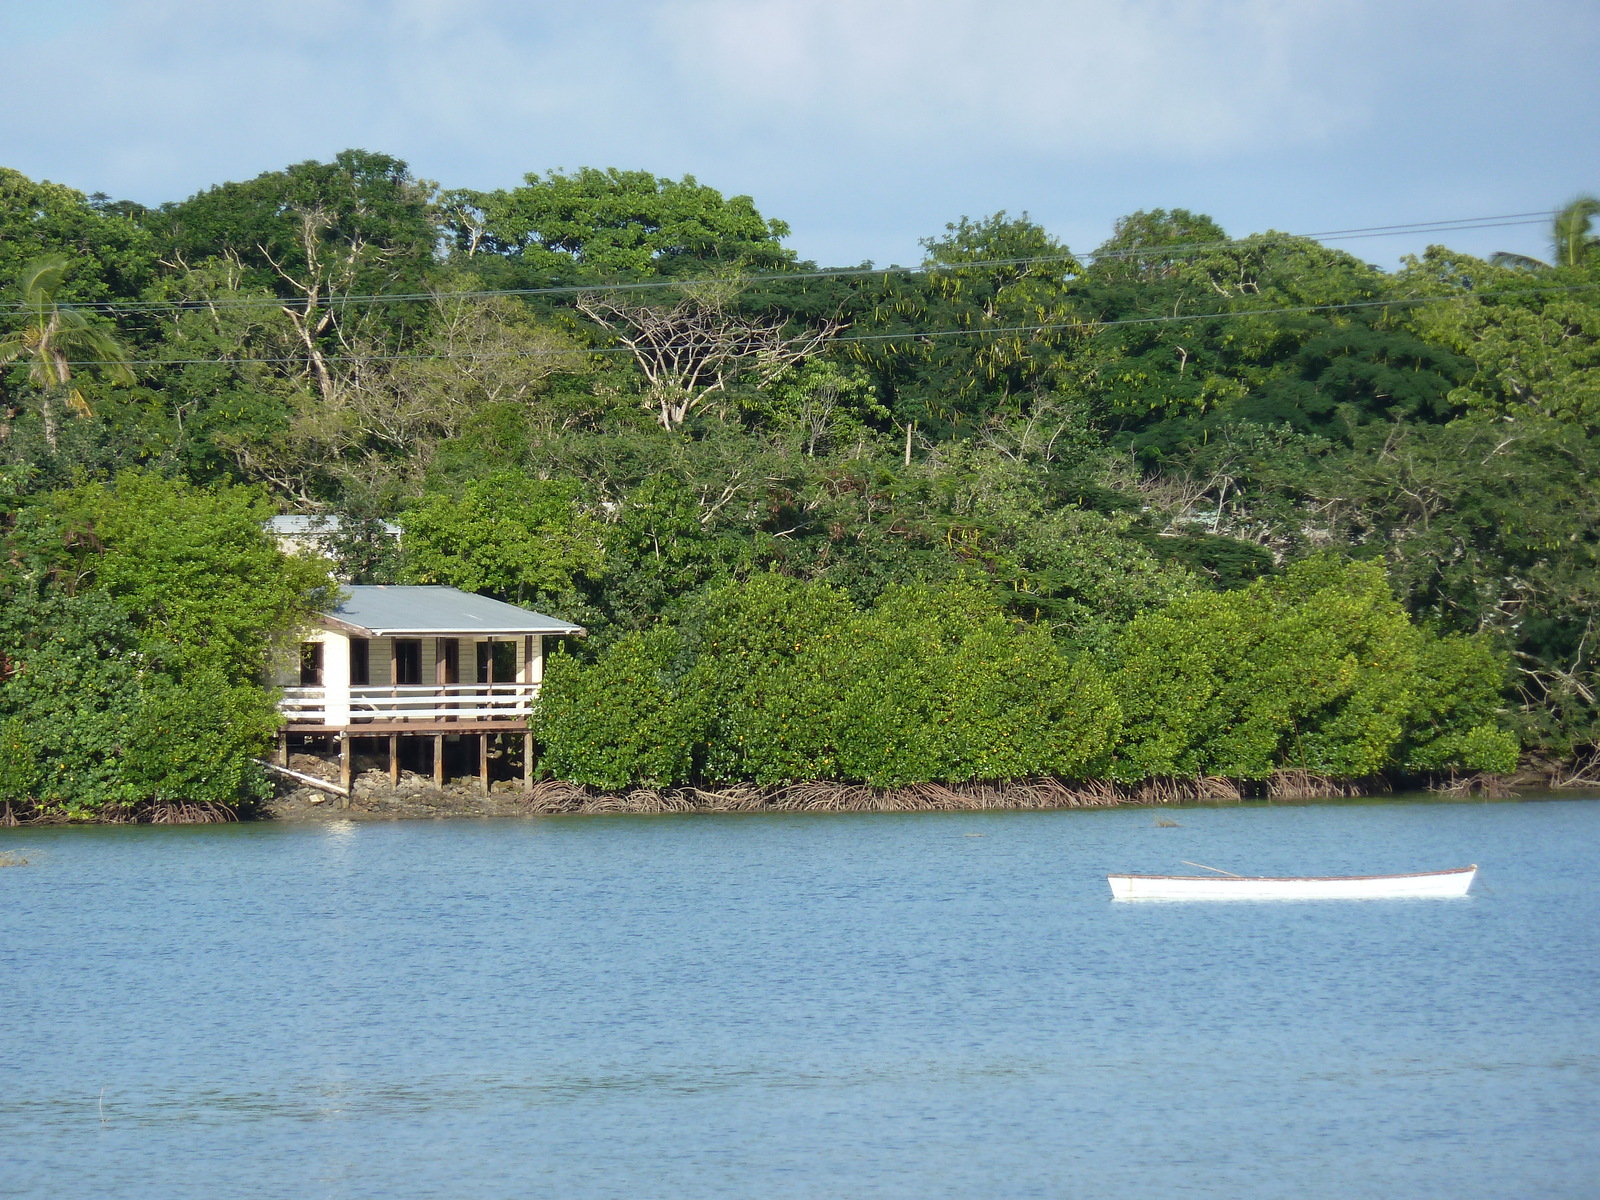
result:
[[[387,752],[390,782],[405,760],[432,770],[435,784],[469,768],[488,790],[491,760],[520,758],[530,787],[544,640],[582,627],[454,587],[346,586],[342,595],[274,678],[285,717],[278,763],[288,766],[296,744],[336,747],[349,792],[352,755]]]

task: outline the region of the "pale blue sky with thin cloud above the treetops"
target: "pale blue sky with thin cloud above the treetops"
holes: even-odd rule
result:
[[[1000,210],[1086,251],[1600,192],[1600,0],[0,0],[0,165],[160,203],[346,147],[446,187],[643,168],[826,266]],[[1542,219],[1338,240],[1544,254]]]

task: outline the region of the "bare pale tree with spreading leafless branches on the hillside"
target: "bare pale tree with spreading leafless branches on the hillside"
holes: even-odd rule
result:
[[[726,296],[690,293],[670,309],[619,293],[586,291],[578,310],[616,334],[650,386],[648,406],[662,429],[677,429],[742,376],[766,387],[846,328],[829,318],[786,333],[782,322],[733,312]]]

